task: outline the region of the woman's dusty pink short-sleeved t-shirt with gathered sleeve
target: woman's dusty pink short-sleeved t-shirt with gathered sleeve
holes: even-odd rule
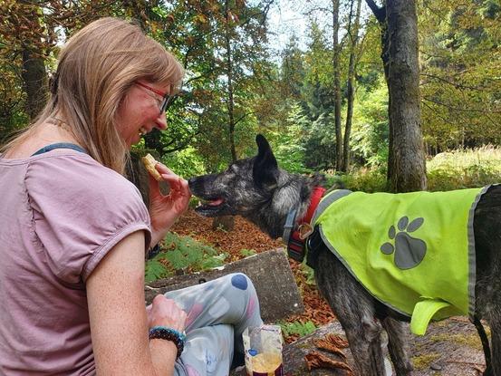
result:
[[[88,155],[0,158],[0,374],[95,373],[85,281],[138,230],[139,190]]]

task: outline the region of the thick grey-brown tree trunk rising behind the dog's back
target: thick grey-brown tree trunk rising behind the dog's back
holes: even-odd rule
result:
[[[418,17],[415,0],[388,0],[390,123],[393,160],[390,188],[409,192],[427,188],[419,108]]]

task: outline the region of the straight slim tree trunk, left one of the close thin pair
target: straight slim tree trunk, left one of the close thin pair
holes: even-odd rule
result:
[[[336,169],[342,170],[342,131],[341,131],[341,79],[339,55],[339,0],[332,0],[332,68],[334,72],[334,128],[336,132]]]

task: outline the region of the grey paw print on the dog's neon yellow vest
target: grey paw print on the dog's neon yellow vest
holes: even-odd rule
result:
[[[385,255],[395,253],[395,265],[399,269],[411,269],[419,265],[426,255],[426,243],[421,239],[409,236],[409,233],[416,231],[424,223],[424,218],[419,217],[409,223],[408,217],[401,217],[397,227],[397,233],[394,226],[388,230],[388,237],[395,240],[395,246],[386,242],[381,246],[381,252]]]

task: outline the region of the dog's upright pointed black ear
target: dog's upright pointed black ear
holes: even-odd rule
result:
[[[278,164],[270,144],[265,136],[255,136],[258,152],[254,160],[253,177],[260,188],[272,189],[276,187],[278,178]]]

